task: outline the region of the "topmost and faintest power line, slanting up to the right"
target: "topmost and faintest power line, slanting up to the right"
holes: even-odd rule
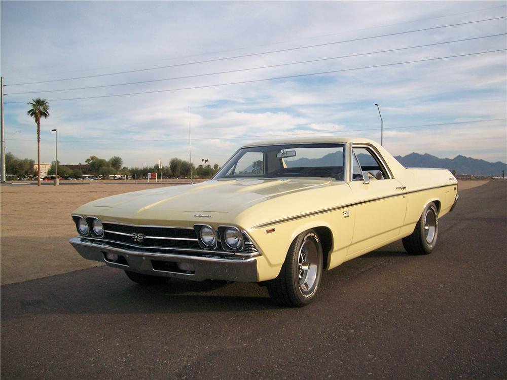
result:
[[[111,65],[111,66],[102,66],[102,67],[92,67],[92,68],[80,69],[80,70],[52,72],[52,73],[47,73],[46,75],[68,74],[68,73],[72,73],[72,72],[83,72],[83,71],[91,71],[91,70],[101,70],[101,69],[105,69],[105,68],[132,66],[132,65],[139,65],[139,64],[147,64],[147,63],[151,63],[151,62],[161,62],[161,61],[168,61],[168,60],[174,60],[174,59],[199,57],[199,56],[210,55],[210,54],[229,53],[229,52],[234,52],[234,51],[239,51],[239,50],[245,50],[245,49],[261,48],[261,47],[265,47],[265,46],[273,46],[273,45],[281,45],[281,44],[292,43],[292,42],[314,40],[314,39],[318,39],[318,38],[321,38],[321,37],[329,37],[329,36],[335,36],[335,35],[340,35],[340,34],[346,34],[346,33],[352,33],[352,32],[357,32],[357,31],[363,31],[363,30],[385,28],[385,27],[389,27],[389,26],[411,24],[411,23],[420,22],[420,21],[435,20],[435,19],[444,18],[444,17],[459,16],[459,15],[464,15],[464,14],[468,14],[468,13],[476,13],[476,12],[482,12],[482,11],[489,11],[489,10],[497,9],[497,8],[505,8],[505,5],[500,5],[500,6],[491,7],[491,8],[481,8],[481,9],[476,9],[476,10],[473,10],[473,11],[451,13],[451,14],[442,15],[442,16],[435,16],[435,17],[427,17],[427,18],[415,19],[415,20],[404,21],[404,22],[397,22],[397,23],[393,23],[393,24],[384,24],[384,25],[371,26],[371,27],[368,27],[368,28],[343,30],[341,32],[321,34],[321,35],[314,35],[314,36],[311,36],[311,37],[305,37],[305,38],[301,38],[301,39],[297,39],[297,40],[286,40],[286,41],[279,41],[279,42],[274,42],[274,43],[270,43],[270,44],[262,44],[262,45],[250,45],[250,46],[245,46],[245,47],[236,48],[236,49],[228,49],[228,50],[221,50],[221,51],[214,51],[214,52],[207,52],[207,53],[199,53],[199,54],[192,54],[192,55],[185,55],[185,56],[177,56],[177,57],[171,57],[171,58],[165,58],[165,59],[157,59],[157,60],[150,61],[150,62],[147,62],[147,61],[144,61],[144,62],[133,62],[133,63],[126,63],[126,64],[121,64],[121,65]],[[23,78],[23,76],[18,75],[16,77],[9,77],[9,79],[16,79],[16,78]],[[11,86],[13,86],[13,85],[11,85]]]

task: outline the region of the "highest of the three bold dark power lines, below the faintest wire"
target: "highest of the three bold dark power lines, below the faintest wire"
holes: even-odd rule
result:
[[[223,60],[228,60],[228,59],[253,57],[253,56],[264,55],[264,54],[281,53],[281,52],[287,52],[287,51],[316,48],[316,47],[321,47],[321,46],[343,44],[343,43],[346,43],[346,42],[356,42],[356,41],[371,40],[371,39],[376,39],[376,38],[380,38],[380,37],[388,37],[388,36],[393,36],[393,35],[400,35],[400,34],[414,33],[414,32],[420,32],[420,31],[427,31],[427,30],[447,28],[447,27],[452,27],[452,26],[474,24],[474,23],[478,23],[478,22],[499,20],[499,19],[506,18],[506,17],[507,16],[494,17],[494,18],[483,19],[483,20],[461,22],[461,23],[457,23],[457,24],[434,26],[434,27],[431,27],[431,28],[416,29],[416,30],[407,30],[407,31],[396,32],[396,33],[374,35],[374,36],[369,36],[369,37],[360,37],[360,38],[357,38],[357,39],[344,40],[344,41],[335,41],[335,42],[329,42],[329,43],[324,43],[324,44],[315,44],[315,45],[308,45],[308,46],[300,46],[300,47],[296,47],[296,48],[287,48],[287,49],[280,49],[280,50],[272,50],[272,51],[267,51],[267,52],[251,53],[251,54],[237,55],[237,56],[232,56],[232,57],[207,59],[207,60],[204,60],[204,61],[197,61],[197,62],[178,63],[178,64],[174,64],[174,65],[150,67],[150,68],[143,68],[143,69],[136,69],[136,70],[127,70],[127,71],[118,71],[118,72],[111,72],[111,73],[106,73],[106,74],[86,75],[84,77],[53,79],[53,80],[49,80],[49,81],[39,81],[39,82],[15,83],[15,84],[5,85],[5,86],[21,86],[21,85],[40,84],[40,83],[62,82],[62,81],[70,81],[70,80],[77,80],[77,79],[107,77],[107,76],[110,76],[110,75],[127,74],[127,73],[140,72],[140,71],[159,70],[159,69],[163,69],[163,68],[180,67],[180,66],[193,65],[193,64],[198,64],[198,63],[217,62],[217,61],[223,61]]]

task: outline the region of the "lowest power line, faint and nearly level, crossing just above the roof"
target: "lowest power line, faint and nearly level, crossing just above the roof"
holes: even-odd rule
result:
[[[507,118],[502,119],[486,119],[486,120],[473,120],[468,122],[449,122],[449,123],[437,123],[437,124],[420,124],[420,125],[410,125],[410,126],[401,126],[401,127],[387,127],[384,129],[389,130],[396,130],[396,129],[406,129],[406,128],[421,128],[421,127],[439,127],[443,125],[455,125],[455,124],[473,124],[473,123],[487,123],[487,122],[496,122],[496,121],[502,121],[507,120]],[[367,128],[367,129],[346,129],[346,130],[340,130],[340,131],[322,131],[322,132],[304,132],[304,133],[291,133],[291,136],[300,136],[300,135],[320,135],[320,134],[337,134],[337,133],[349,133],[349,132],[365,132],[365,131],[378,131],[378,128]],[[280,136],[287,136],[287,133],[283,134],[271,134],[271,135],[250,135],[250,136],[237,136],[237,137],[203,137],[203,138],[194,138],[194,140],[237,140],[242,138],[259,138],[259,137],[280,137]],[[28,139],[10,139],[11,141],[32,141]],[[186,138],[171,138],[171,139],[153,139],[153,140],[122,140],[122,139],[100,139],[100,141],[94,140],[59,140],[60,142],[95,142],[95,143],[108,143],[111,141],[118,141],[118,142],[154,142],[154,141],[188,141]]]

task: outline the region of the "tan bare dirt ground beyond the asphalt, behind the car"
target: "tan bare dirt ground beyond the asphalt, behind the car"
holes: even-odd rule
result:
[[[464,190],[487,182],[460,181],[458,188]],[[160,184],[115,181],[111,184],[0,186],[0,284],[102,265],[83,259],[68,243],[77,235],[70,213],[95,199],[155,186]]]

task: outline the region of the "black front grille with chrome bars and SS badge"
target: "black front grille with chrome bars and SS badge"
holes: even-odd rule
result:
[[[104,226],[103,239],[120,244],[135,245],[137,247],[146,247],[148,250],[153,248],[160,249],[191,249],[199,251],[197,234],[194,229],[175,228],[175,227],[157,227],[157,226],[139,226],[116,223],[102,223]],[[139,239],[138,236],[142,235]],[[255,245],[243,234],[245,241],[244,249],[240,254],[256,255],[258,250]],[[208,249],[210,250],[210,249]],[[216,251],[221,250],[220,244]],[[230,253],[229,253],[230,254]]]

